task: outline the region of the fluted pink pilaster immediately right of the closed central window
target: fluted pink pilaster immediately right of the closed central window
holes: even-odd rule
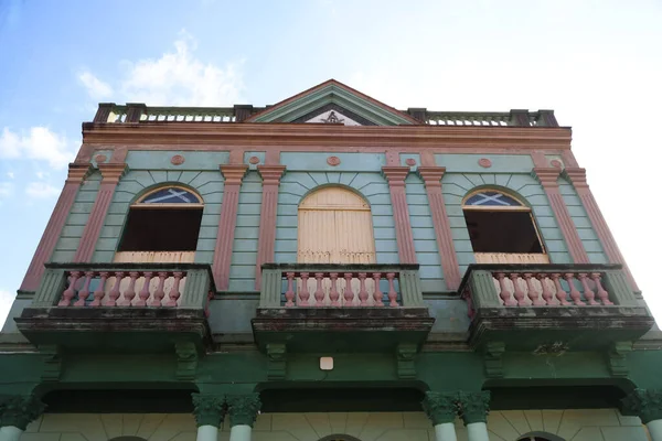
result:
[[[388,181],[391,191],[391,204],[393,205],[393,217],[395,219],[395,238],[401,263],[416,263],[416,251],[414,249],[414,235],[409,220],[409,207],[405,193],[405,179],[409,173],[408,166],[383,166],[382,172]]]

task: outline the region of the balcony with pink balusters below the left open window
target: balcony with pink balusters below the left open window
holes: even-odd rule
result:
[[[35,345],[167,351],[211,342],[207,265],[47,263],[32,304],[14,319]]]

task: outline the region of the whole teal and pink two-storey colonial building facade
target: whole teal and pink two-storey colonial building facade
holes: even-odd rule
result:
[[[100,104],[0,334],[0,440],[662,441],[570,135],[335,80]]]

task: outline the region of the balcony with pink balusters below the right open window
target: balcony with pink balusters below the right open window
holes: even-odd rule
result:
[[[636,340],[654,323],[617,265],[472,265],[459,292],[472,347],[595,349]]]

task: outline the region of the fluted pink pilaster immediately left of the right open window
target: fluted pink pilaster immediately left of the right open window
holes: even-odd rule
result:
[[[439,248],[439,258],[446,287],[449,290],[457,290],[460,287],[462,277],[460,276],[460,266],[455,252],[452,235],[450,233],[450,223],[446,213],[446,203],[441,194],[441,178],[446,168],[444,166],[419,166],[418,174],[425,183],[425,190],[428,195],[428,204],[433,214],[433,225],[437,236],[437,247]]]

